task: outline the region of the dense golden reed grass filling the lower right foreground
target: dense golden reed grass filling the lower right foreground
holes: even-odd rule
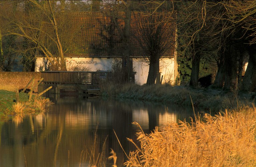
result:
[[[256,166],[256,108],[210,116],[204,121],[172,123],[145,134],[126,166]],[[138,125],[137,123],[134,123]],[[138,125],[140,127],[140,125]]]

